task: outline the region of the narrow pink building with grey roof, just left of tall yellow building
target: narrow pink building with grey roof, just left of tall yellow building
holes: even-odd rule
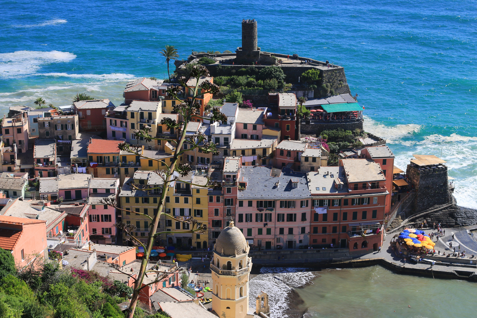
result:
[[[99,244],[116,244],[116,211],[110,205],[104,205],[105,198],[118,198],[119,179],[92,178],[89,185],[88,221],[91,240]]]

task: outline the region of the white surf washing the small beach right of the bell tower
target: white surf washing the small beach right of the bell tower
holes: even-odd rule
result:
[[[249,282],[249,306],[255,308],[255,297],[266,292],[272,318],[288,317],[285,312],[289,308],[288,293],[292,287],[302,287],[315,278],[306,269],[293,267],[262,267],[260,273]]]

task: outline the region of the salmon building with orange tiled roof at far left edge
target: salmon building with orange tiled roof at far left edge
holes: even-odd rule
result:
[[[11,251],[19,267],[26,266],[37,254],[47,258],[46,221],[0,215],[0,247]]]

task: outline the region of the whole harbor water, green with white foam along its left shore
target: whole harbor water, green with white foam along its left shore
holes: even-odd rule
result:
[[[476,285],[462,280],[399,275],[380,266],[261,271],[250,280],[250,295],[269,294],[272,318],[463,318],[477,310]]]

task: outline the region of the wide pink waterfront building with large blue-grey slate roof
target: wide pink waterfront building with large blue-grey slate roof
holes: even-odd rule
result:
[[[236,225],[249,245],[262,249],[310,244],[311,195],[306,174],[283,168],[242,169]]]

